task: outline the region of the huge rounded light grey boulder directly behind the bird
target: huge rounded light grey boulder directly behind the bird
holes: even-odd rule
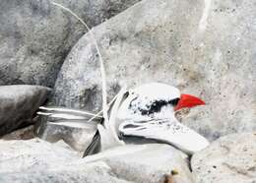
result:
[[[206,106],[183,122],[208,139],[256,129],[256,4],[252,1],[145,0],[93,30],[108,97],[162,82],[199,95]],[[53,105],[101,109],[96,48],[84,35],[57,79]]]

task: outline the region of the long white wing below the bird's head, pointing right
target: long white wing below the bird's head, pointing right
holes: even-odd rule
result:
[[[168,119],[126,121],[120,125],[119,131],[124,136],[144,137],[164,142],[189,154],[199,152],[209,145],[207,139],[194,130],[178,121],[173,122]]]

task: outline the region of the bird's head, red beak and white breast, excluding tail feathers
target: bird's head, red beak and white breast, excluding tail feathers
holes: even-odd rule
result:
[[[188,154],[205,149],[209,142],[181,124],[175,112],[206,103],[197,96],[181,93],[161,83],[142,85],[129,91],[117,113],[118,131],[122,136],[136,136],[167,143]]]

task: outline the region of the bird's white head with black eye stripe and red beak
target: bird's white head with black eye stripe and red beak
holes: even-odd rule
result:
[[[204,105],[197,96],[181,93],[177,88],[160,83],[142,85],[129,91],[122,103],[119,116],[123,119],[168,118],[182,108]]]

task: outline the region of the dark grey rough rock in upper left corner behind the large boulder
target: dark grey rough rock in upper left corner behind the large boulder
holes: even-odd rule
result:
[[[138,1],[56,2],[94,27]],[[49,0],[3,0],[0,12],[0,85],[53,87],[64,58],[86,32],[84,26]]]

